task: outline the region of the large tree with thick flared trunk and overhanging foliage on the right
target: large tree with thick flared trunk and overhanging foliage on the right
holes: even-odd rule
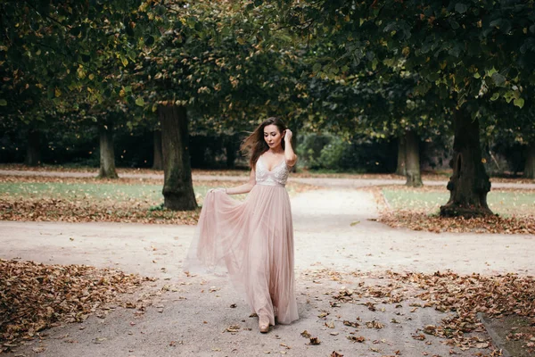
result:
[[[279,2],[281,3],[281,2]],[[481,164],[479,107],[502,98],[522,107],[535,83],[534,2],[379,0],[282,2],[285,21],[308,36],[329,34],[333,54],[320,71],[403,66],[421,80],[416,94],[453,98],[453,175],[443,215],[490,214]],[[281,7],[278,7],[280,10]],[[484,61],[483,61],[484,59]],[[468,130],[468,131],[466,131]]]

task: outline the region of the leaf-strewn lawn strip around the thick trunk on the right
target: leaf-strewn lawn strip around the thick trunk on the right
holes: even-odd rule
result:
[[[439,187],[383,187],[374,195],[383,203],[378,221],[392,228],[428,230],[436,233],[535,234],[535,190],[499,189],[487,196],[488,217],[442,218],[440,205],[448,202],[449,192]]]

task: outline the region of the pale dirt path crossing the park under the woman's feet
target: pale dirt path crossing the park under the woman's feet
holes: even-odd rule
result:
[[[439,311],[413,311],[410,302],[397,308],[376,302],[376,311],[366,308],[364,300],[333,306],[330,295],[341,288],[358,289],[359,284],[385,284],[386,270],[535,275],[533,236],[439,235],[388,228],[369,220],[378,214],[366,191],[333,187],[305,192],[292,198],[292,213],[300,320],[276,326],[267,335],[259,334],[258,320],[249,317],[251,311],[226,278],[187,277],[181,270],[194,227],[0,221],[0,258],[114,267],[157,278],[145,286],[152,293],[143,313],[112,307],[103,318],[52,328],[43,341],[29,342],[10,355],[487,354],[487,348],[462,351],[434,336],[414,339],[425,325],[440,323],[446,314]],[[342,279],[333,279],[330,271]],[[326,319],[318,317],[322,311],[329,313]],[[385,327],[356,330],[342,323],[357,318],[382,321]],[[392,319],[402,322],[393,324]],[[229,332],[231,326],[238,328]],[[307,345],[303,330],[317,336],[320,345]],[[355,334],[366,337],[365,342],[347,338]],[[484,331],[479,335],[488,337]]]

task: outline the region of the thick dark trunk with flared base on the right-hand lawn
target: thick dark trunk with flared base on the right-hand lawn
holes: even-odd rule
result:
[[[479,120],[457,109],[453,127],[453,175],[448,182],[449,201],[440,207],[440,215],[472,218],[492,214],[487,204],[490,179],[481,162]]]

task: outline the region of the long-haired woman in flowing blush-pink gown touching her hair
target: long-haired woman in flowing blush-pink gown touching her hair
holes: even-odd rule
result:
[[[251,155],[249,182],[209,191],[185,270],[224,268],[244,290],[266,333],[275,318],[298,319],[293,278],[293,226],[284,185],[297,162],[292,131],[283,120],[268,118],[242,144]],[[244,202],[229,195],[250,193]]]

